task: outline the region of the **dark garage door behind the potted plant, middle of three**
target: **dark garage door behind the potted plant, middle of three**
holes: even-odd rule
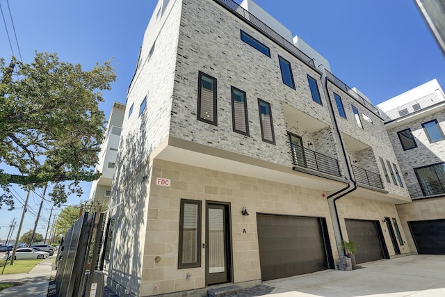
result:
[[[346,219],[345,223],[349,240],[358,245],[355,253],[357,264],[385,259],[387,250],[383,245],[385,241],[378,220]]]

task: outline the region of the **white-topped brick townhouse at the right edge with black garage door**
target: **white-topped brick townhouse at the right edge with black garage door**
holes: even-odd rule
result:
[[[445,255],[445,95],[436,79],[378,108],[412,203],[396,206],[412,252]]]

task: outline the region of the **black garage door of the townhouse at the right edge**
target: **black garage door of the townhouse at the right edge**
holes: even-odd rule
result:
[[[445,220],[408,222],[419,254],[445,255]]]

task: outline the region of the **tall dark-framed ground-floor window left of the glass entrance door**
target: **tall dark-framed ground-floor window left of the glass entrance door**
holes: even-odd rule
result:
[[[178,268],[201,266],[201,201],[181,199]]]

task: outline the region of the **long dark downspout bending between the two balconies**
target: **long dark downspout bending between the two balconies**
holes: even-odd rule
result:
[[[357,182],[355,182],[355,180],[353,179],[353,175],[352,172],[350,170],[350,166],[348,163],[348,154],[346,153],[346,149],[343,145],[343,141],[341,139],[341,135],[340,135],[340,129],[339,126],[337,124],[337,118],[335,117],[335,113],[334,113],[334,108],[332,107],[332,100],[331,97],[329,95],[329,91],[327,90],[327,76],[326,76],[326,72],[325,72],[325,68],[323,67],[323,65],[319,65],[318,67],[321,67],[321,72],[322,72],[322,79],[324,77],[324,85],[323,85],[323,91],[325,93],[325,98],[327,101],[327,105],[330,108],[330,115],[331,115],[331,120],[334,128],[334,133],[337,134],[337,137],[339,139],[339,143],[340,143],[340,148],[341,148],[341,152],[343,153],[343,158],[344,158],[344,164],[346,165],[344,167],[346,167],[346,170],[348,172],[348,176],[346,177],[346,180],[348,180],[348,185],[345,188],[341,188],[339,191],[336,191],[330,195],[327,195],[327,201],[329,201],[330,199],[333,198],[332,203],[334,204],[334,212],[335,212],[335,217],[337,219],[337,227],[339,230],[339,236],[340,236],[340,242],[343,241],[343,232],[341,232],[341,224],[340,224],[340,218],[339,218],[339,212],[337,210],[337,200],[339,200],[340,198],[348,195],[349,193],[352,193],[353,191],[355,191],[357,189]],[[351,185],[353,186],[351,188]],[[336,239],[336,242],[337,239]],[[339,255],[344,255],[344,251],[343,250],[339,250],[338,249],[338,245],[337,246],[337,251],[339,252]]]

